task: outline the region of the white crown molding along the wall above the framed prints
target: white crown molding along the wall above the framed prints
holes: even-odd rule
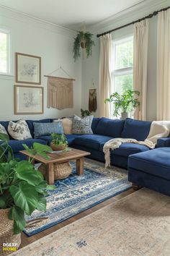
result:
[[[18,22],[24,22],[34,26],[36,25],[37,27],[41,27],[46,30],[51,30],[55,33],[59,33],[62,35],[68,35],[73,37],[76,34],[75,30],[71,30],[60,25],[56,25],[55,23],[51,23],[46,20],[41,20],[29,14],[25,14],[24,12],[18,12],[14,9],[4,7],[3,5],[0,5],[0,15],[11,18],[13,20],[17,20]]]

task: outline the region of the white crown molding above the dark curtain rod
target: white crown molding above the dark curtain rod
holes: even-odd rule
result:
[[[94,34],[103,33],[105,30],[112,30],[115,27],[133,22],[133,20],[138,20],[151,12],[168,6],[169,0],[143,0],[139,4],[135,4],[133,7],[125,9],[124,11],[87,28]]]

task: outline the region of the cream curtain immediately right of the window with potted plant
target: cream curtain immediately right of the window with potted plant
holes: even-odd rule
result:
[[[146,120],[148,66],[148,19],[134,24],[133,39],[133,88],[140,92],[140,107],[135,110],[135,118]]]

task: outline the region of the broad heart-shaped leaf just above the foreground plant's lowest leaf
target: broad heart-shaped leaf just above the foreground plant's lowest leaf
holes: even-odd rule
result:
[[[14,203],[19,208],[24,210],[27,215],[37,207],[38,194],[34,186],[27,184],[27,182],[19,182],[19,186],[12,185],[9,192],[14,198]]]

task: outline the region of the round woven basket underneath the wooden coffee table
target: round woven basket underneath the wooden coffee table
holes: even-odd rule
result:
[[[54,179],[65,179],[72,172],[72,167],[69,162],[54,164]]]

